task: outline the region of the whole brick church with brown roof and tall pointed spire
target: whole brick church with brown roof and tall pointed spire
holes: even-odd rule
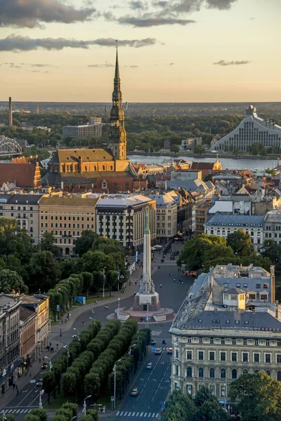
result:
[[[126,130],[116,51],[114,90],[107,149],[58,149],[48,163],[42,185],[68,192],[133,192],[146,188],[126,157]]]

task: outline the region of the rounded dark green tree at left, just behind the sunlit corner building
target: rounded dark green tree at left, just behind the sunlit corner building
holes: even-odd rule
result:
[[[31,292],[41,290],[47,292],[53,288],[60,279],[58,262],[53,258],[51,251],[35,253],[30,260],[30,281],[28,286]]]

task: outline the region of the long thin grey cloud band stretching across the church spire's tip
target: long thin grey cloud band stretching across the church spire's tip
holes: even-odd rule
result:
[[[140,48],[145,46],[152,46],[156,44],[155,38],[145,39],[121,39],[118,41],[119,46],[129,46]],[[33,39],[30,36],[22,36],[11,34],[4,39],[0,39],[0,51],[32,51],[38,48],[45,50],[63,50],[63,48],[89,48],[89,46],[115,46],[116,41],[113,38],[100,38],[93,40],[78,40],[65,38],[37,38]]]

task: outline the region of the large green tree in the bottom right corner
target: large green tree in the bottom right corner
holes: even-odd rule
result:
[[[231,383],[229,396],[239,400],[243,421],[281,420],[281,384],[264,371],[240,375]]]

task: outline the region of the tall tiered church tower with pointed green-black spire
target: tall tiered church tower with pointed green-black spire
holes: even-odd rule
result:
[[[122,92],[120,91],[118,49],[116,48],[114,90],[112,93],[112,109],[110,112],[110,131],[108,132],[108,147],[111,149],[116,160],[127,161],[126,144]],[[117,163],[116,167],[118,167]],[[116,170],[118,171],[117,168]]]

